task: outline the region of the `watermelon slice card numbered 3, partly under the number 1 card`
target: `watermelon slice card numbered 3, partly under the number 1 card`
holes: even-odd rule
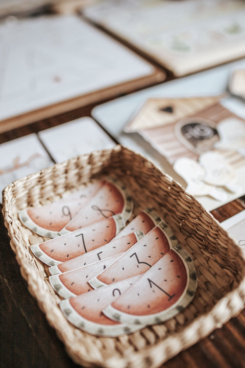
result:
[[[177,245],[176,237],[162,221],[89,283],[94,289],[97,289],[142,274],[174,245]]]

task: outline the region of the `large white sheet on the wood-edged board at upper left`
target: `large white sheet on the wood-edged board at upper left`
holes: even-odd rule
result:
[[[0,120],[154,71],[77,16],[2,22],[0,55]]]

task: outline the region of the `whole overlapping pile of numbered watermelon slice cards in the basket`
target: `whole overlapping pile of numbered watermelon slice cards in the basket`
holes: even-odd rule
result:
[[[161,323],[194,296],[193,261],[171,228],[152,209],[129,221],[132,212],[130,191],[114,178],[19,211],[24,225],[53,238],[31,251],[50,266],[66,318],[91,334],[118,336]]]

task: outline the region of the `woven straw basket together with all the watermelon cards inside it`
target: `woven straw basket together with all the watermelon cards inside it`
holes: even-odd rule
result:
[[[244,306],[241,248],[125,147],[14,181],[3,213],[30,293],[82,366],[158,367]]]

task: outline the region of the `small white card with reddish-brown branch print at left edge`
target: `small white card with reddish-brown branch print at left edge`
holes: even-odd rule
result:
[[[0,157],[1,192],[12,181],[53,165],[36,134],[2,143]]]

